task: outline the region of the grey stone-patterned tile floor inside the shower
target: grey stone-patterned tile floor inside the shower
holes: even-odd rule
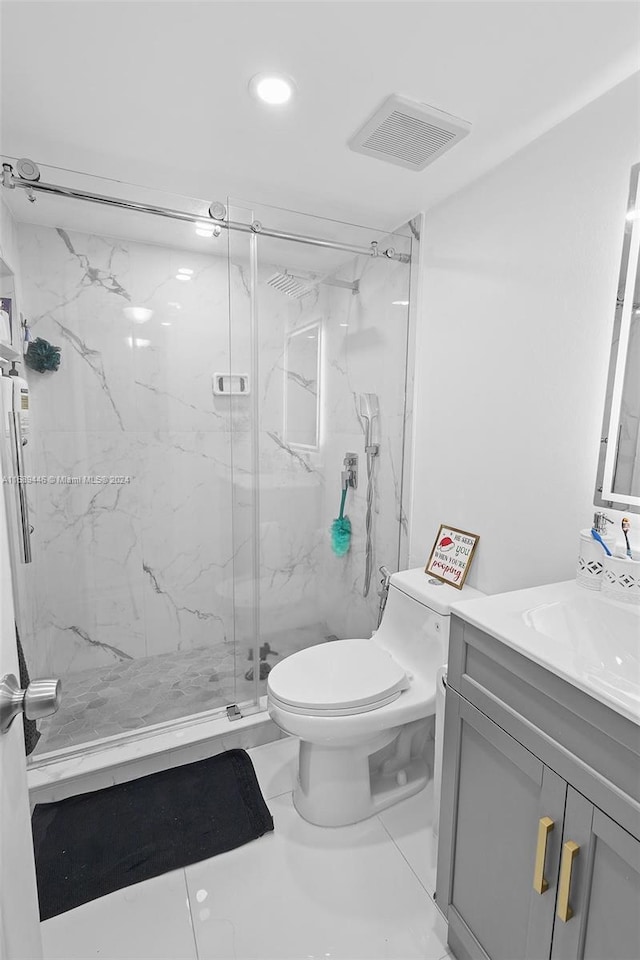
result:
[[[330,639],[335,638],[327,635],[325,624],[283,630],[263,640],[272,650],[266,662],[273,666],[296,650]],[[253,662],[248,655],[246,644],[222,644],[70,673],[62,678],[60,709],[39,722],[42,736],[34,756],[250,700],[254,685],[247,674]],[[258,695],[266,692],[265,677]]]

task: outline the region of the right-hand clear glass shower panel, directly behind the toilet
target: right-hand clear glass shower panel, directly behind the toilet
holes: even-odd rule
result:
[[[234,456],[236,627],[239,658],[247,657],[239,682],[257,684],[263,696],[269,671],[291,653],[370,636],[377,567],[406,562],[411,238],[409,230],[385,237],[255,204],[231,209],[255,230],[236,235],[230,255],[232,363],[250,370],[251,389],[245,419],[237,412],[247,428]],[[276,238],[272,230],[365,252]],[[372,242],[405,260],[370,255]],[[379,411],[371,497],[365,393],[377,397]],[[347,455],[357,459],[358,482],[347,491],[350,549],[337,556],[331,527]],[[374,576],[365,592],[367,554]]]

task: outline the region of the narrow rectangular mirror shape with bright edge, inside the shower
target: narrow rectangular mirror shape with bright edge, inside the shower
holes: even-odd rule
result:
[[[284,437],[315,449],[320,443],[320,321],[287,335],[284,351]]]

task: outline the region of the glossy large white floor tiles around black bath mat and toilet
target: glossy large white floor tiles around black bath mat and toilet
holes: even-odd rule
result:
[[[249,750],[275,830],[42,924],[47,960],[444,960],[429,788],[362,823],[292,805],[297,741]]]

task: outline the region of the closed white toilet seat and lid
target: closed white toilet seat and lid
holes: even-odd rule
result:
[[[403,668],[373,640],[307,647],[270,672],[268,691],[283,710],[340,717],[377,710],[408,689]]]

